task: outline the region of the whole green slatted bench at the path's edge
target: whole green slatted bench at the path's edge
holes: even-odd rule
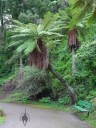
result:
[[[92,108],[92,104],[88,101],[79,100],[73,107],[81,112],[87,112],[88,116]]]

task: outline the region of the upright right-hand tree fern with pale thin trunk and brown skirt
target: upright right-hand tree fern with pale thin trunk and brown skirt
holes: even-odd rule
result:
[[[59,11],[61,20],[64,22],[64,28],[68,34],[68,45],[72,52],[72,75],[76,72],[76,51],[80,46],[80,36],[82,36],[82,29],[84,27],[83,23],[77,23],[75,25],[71,24],[74,18],[74,12],[71,7],[67,8],[65,11]]]

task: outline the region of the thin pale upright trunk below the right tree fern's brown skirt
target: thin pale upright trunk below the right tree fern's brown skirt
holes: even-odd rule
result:
[[[72,49],[72,76],[76,73],[76,52]]]

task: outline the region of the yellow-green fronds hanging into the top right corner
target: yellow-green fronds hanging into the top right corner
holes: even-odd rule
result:
[[[96,1],[95,0],[70,0],[70,5],[74,10],[74,18],[71,21],[72,25],[75,25],[86,16],[86,14],[90,13],[90,17],[88,18],[88,24],[96,21]]]

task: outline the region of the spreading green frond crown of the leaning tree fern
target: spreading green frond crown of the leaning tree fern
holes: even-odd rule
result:
[[[37,44],[38,39],[42,39],[46,43],[48,37],[50,40],[54,39],[56,41],[56,37],[62,38],[63,36],[59,33],[63,28],[63,23],[60,22],[58,14],[48,13],[39,25],[32,23],[23,24],[16,20],[13,22],[15,25],[11,30],[12,35],[9,46],[16,46],[18,52],[23,51],[25,54],[29,54],[34,49],[40,51]]]

